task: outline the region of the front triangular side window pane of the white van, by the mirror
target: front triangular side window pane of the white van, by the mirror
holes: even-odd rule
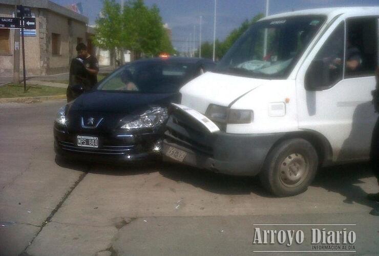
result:
[[[324,90],[343,78],[345,23],[342,22],[326,40],[305,75],[308,90]]]

